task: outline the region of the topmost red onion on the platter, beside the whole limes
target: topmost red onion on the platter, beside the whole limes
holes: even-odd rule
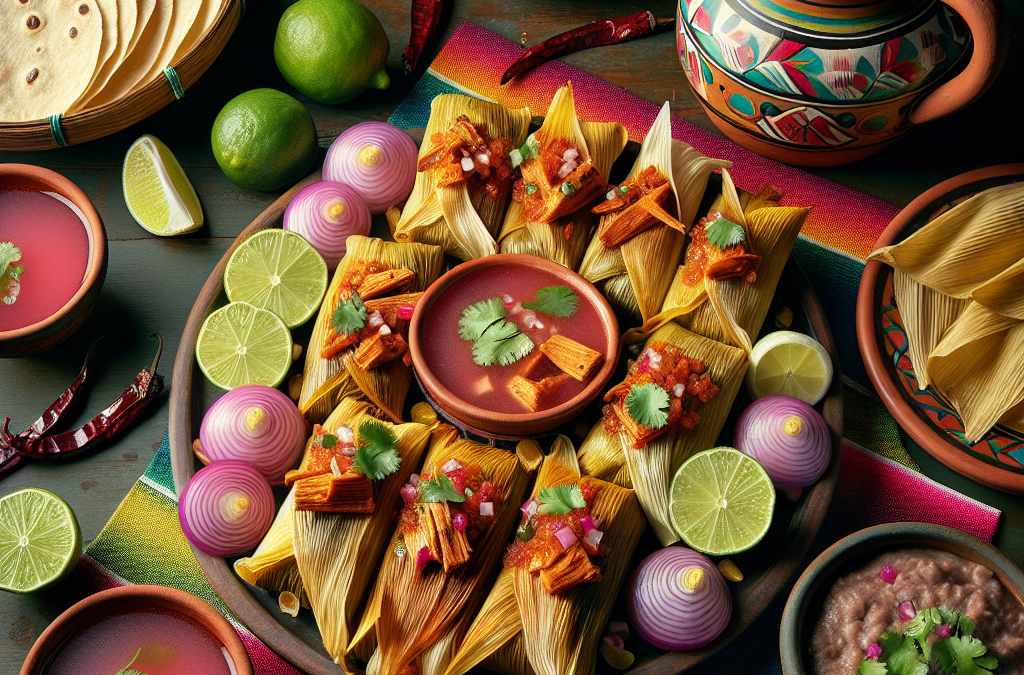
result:
[[[408,133],[386,122],[362,122],[334,139],[324,160],[324,179],[351,185],[371,213],[384,213],[413,192],[419,149]]]

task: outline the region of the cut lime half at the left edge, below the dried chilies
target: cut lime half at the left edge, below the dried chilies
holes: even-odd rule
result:
[[[31,593],[67,577],[82,556],[75,512],[53,493],[27,488],[0,499],[0,590]]]

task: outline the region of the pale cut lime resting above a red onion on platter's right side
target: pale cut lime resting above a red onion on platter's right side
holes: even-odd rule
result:
[[[831,360],[817,340],[794,331],[769,333],[754,345],[746,371],[752,398],[784,393],[814,405],[831,384]]]

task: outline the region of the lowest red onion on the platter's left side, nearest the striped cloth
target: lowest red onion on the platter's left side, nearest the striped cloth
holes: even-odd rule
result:
[[[196,548],[210,555],[251,550],[270,529],[273,492],[263,474],[238,460],[196,472],[178,499],[178,520]]]

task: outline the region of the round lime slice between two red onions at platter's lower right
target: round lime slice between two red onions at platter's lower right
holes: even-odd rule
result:
[[[774,509],[775,488],[768,473],[735,448],[697,453],[672,479],[672,524],[701,553],[745,551],[764,538]]]

